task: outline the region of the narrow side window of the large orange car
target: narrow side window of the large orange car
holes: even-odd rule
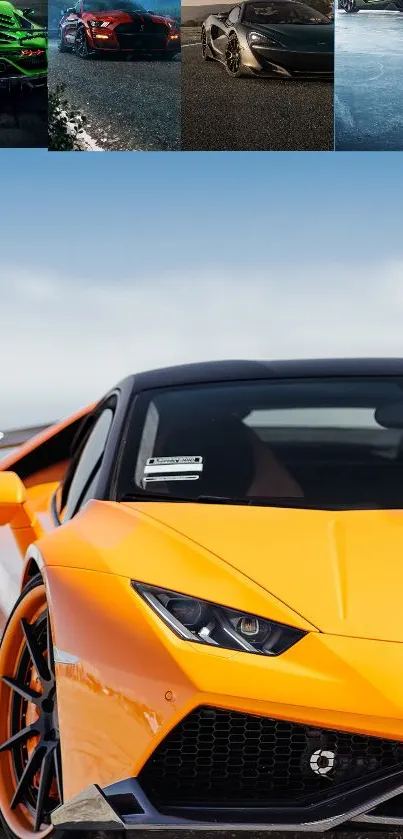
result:
[[[105,408],[90,431],[71,480],[63,521],[93,497],[112,420],[112,408]]]

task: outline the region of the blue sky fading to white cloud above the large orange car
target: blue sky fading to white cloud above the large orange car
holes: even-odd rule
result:
[[[0,429],[139,369],[403,356],[403,156],[0,151]]]

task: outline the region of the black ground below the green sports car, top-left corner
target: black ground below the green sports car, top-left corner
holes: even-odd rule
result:
[[[0,148],[46,148],[46,89],[12,96],[0,93]]]

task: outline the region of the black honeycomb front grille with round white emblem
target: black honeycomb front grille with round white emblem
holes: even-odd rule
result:
[[[397,766],[403,742],[201,707],[167,735],[139,780],[162,811],[302,806]]]

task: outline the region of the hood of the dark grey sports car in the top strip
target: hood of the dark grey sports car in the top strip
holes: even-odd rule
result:
[[[253,26],[247,24],[247,28],[253,31],[262,32],[268,37],[274,38],[279,44],[290,50],[328,50],[334,49],[334,26],[331,23],[309,25],[288,24],[262,24]]]

